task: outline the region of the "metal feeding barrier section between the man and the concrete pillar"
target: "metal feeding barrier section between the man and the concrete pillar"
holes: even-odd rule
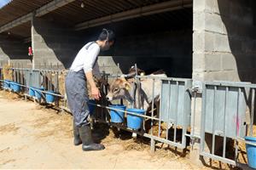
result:
[[[118,78],[119,75],[105,75],[107,79]],[[99,122],[106,122],[111,124],[113,127],[122,128],[132,133],[137,133],[148,139],[151,139],[151,150],[154,150],[155,141],[162,142],[164,144],[170,144],[179,149],[184,149],[187,145],[187,136],[189,136],[188,128],[190,126],[190,108],[191,108],[191,97],[189,89],[192,88],[191,79],[183,78],[168,78],[168,77],[152,77],[152,76],[135,76],[134,82],[139,82],[141,79],[151,80],[152,91],[151,96],[155,94],[155,83],[160,82],[160,105],[157,110],[159,113],[154,114],[155,102],[152,99],[149,105],[148,113],[145,115],[139,115],[129,111],[121,111],[108,107],[107,101],[101,101],[101,111],[96,111],[93,119]],[[103,94],[108,94],[108,88],[103,87]],[[149,94],[148,94],[149,95]],[[122,103],[120,101],[120,103]],[[91,104],[94,105],[94,104]],[[132,104],[134,105],[134,104]],[[131,105],[131,107],[132,107]],[[139,130],[132,130],[128,128],[125,123],[112,123],[109,120],[108,111],[104,109],[111,109],[113,111],[125,112],[129,115],[136,115],[143,117],[143,126]],[[148,123],[149,127],[145,127]],[[147,128],[147,129],[146,129]],[[165,129],[163,129],[165,128]],[[165,134],[163,133],[165,131]]]

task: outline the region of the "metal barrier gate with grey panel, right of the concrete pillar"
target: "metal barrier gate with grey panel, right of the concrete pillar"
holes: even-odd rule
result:
[[[247,82],[203,83],[201,156],[231,165],[239,163],[238,143],[245,142],[247,135],[253,136],[255,88]],[[228,141],[234,141],[235,154],[227,157]]]

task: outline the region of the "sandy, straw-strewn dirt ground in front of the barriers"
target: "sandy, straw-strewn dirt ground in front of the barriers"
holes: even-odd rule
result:
[[[106,126],[106,150],[84,152],[73,145],[71,118],[0,91],[0,168],[199,168],[169,150],[151,154],[148,144],[116,138]]]

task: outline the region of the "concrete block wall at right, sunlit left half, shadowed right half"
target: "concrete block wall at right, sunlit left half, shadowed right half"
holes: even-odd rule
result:
[[[256,82],[256,29],[250,2],[194,0],[195,80]]]

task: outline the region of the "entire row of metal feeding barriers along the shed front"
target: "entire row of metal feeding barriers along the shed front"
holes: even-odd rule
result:
[[[137,69],[137,65],[135,67]],[[20,83],[23,87],[22,93],[28,94],[30,88],[37,89],[42,94],[52,94],[62,103],[61,109],[69,111],[65,91],[60,93],[61,71],[54,70],[30,70],[12,68],[12,77],[14,82]],[[105,72],[102,76],[110,82],[111,79],[121,77],[110,75]],[[129,77],[124,75],[123,77]],[[0,68],[0,85],[3,86],[3,69]],[[231,165],[238,165],[238,144],[245,141],[244,136],[253,136],[253,123],[255,121],[255,91],[256,84],[247,82],[201,82],[202,88],[193,88],[192,79],[138,76],[133,77],[132,83],[140,83],[148,80],[151,91],[148,95],[154,96],[159,93],[160,103],[154,99],[148,104],[148,112],[144,115],[132,111],[123,111],[109,107],[109,101],[106,99],[108,86],[101,85],[102,99],[96,103],[96,110],[92,115],[92,122],[104,122],[113,127],[124,129],[126,131],[137,133],[150,139],[151,150],[155,150],[156,142],[164,143],[185,149],[187,145],[192,145],[200,141],[200,155],[211,158],[212,160],[223,161]],[[137,95],[140,95],[143,87],[137,84]],[[42,88],[43,89],[38,89]],[[51,92],[52,91],[52,92]],[[201,104],[198,103],[197,95],[201,94]],[[195,99],[193,105],[191,100]],[[123,104],[123,100],[119,103]],[[58,103],[58,102],[57,102]],[[131,108],[135,103],[130,105]],[[141,106],[142,103],[140,103]],[[201,105],[201,133],[195,134],[195,105]],[[113,123],[109,110],[125,112],[131,116],[141,117],[143,123],[140,129],[129,128],[125,122]],[[197,117],[198,118],[198,117]],[[198,126],[197,126],[198,127]],[[234,141],[234,156],[227,155],[227,143]],[[256,145],[256,144],[252,144]],[[219,151],[221,150],[221,151]]]

